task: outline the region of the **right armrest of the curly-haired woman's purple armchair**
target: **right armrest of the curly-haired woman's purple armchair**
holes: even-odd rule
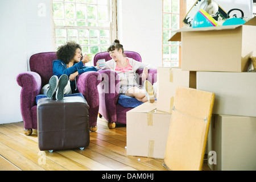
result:
[[[97,125],[97,115],[99,109],[99,94],[97,86],[102,78],[98,72],[84,72],[77,77],[77,89],[84,96],[89,105],[89,125]]]

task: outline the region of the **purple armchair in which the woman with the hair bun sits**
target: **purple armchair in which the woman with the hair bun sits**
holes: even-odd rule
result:
[[[142,61],[141,55],[133,51],[125,51],[127,57],[133,58],[139,62]],[[94,65],[100,59],[105,59],[106,61],[111,60],[109,52],[100,52],[94,56]],[[101,73],[102,82],[98,85],[99,99],[100,99],[100,108],[99,113],[109,122],[109,128],[115,127],[115,122],[126,124],[126,112],[133,109],[133,107],[123,107],[118,104],[119,97],[119,76],[115,71],[108,69],[98,71]],[[137,82],[140,85],[142,83],[143,69],[137,70]],[[148,78],[147,80],[154,84],[156,82],[157,69],[148,69]]]

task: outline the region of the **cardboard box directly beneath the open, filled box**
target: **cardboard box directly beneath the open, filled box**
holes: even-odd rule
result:
[[[256,72],[197,72],[197,89],[216,94],[213,114],[256,117]]]

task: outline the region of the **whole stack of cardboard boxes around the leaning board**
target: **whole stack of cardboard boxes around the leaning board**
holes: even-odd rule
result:
[[[215,93],[208,135],[213,170],[256,170],[256,17],[243,25],[181,28],[181,68],[158,68],[158,98],[127,112],[127,155],[164,159],[176,86]],[[213,151],[213,152],[212,152]]]

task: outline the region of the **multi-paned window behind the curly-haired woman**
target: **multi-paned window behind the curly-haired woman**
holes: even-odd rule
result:
[[[117,36],[115,0],[52,0],[55,48],[68,41],[82,53],[106,51]]]

